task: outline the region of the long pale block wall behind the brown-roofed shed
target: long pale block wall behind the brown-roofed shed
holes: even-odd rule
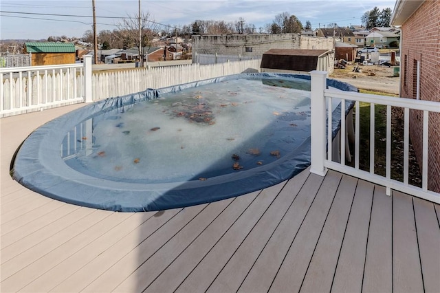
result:
[[[333,40],[300,34],[226,34],[192,36],[198,54],[259,56],[270,49],[333,49]]]

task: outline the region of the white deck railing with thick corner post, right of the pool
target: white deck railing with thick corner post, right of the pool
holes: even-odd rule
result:
[[[325,175],[328,169],[333,169],[341,173],[346,173],[375,184],[386,186],[386,193],[391,195],[391,189],[408,193],[431,202],[440,203],[440,193],[428,190],[428,124],[429,113],[440,113],[440,102],[426,100],[412,100],[408,98],[394,98],[389,96],[378,96],[371,94],[359,94],[351,91],[336,91],[326,89],[327,72],[311,72],[311,172],[318,175]],[[332,158],[332,129],[331,123],[326,127],[326,117],[331,121],[331,111],[326,113],[326,105],[331,107],[332,99],[341,100],[341,109],[345,109],[346,100],[355,101],[355,143],[354,143],[354,167],[347,166],[345,162],[345,148],[340,148],[340,162],[335,162]],[[360,106],[359,102],[370,103],[370,145],[369,145],[369,171],[360,169]],[[326,104],[328,103],[328,104]],[[375,105],[386,105],[386,175],[375,173]],[[404,178],[403,182],[391,178],[391,107],[401,107],[404,109]],[[409,113],[410,110],[423,111],[423,158],[422,158],[422,186],[410,185],[408,182],[409,169]],[[346,145],[345,111],[341,111],[341,135],[340,145]]]

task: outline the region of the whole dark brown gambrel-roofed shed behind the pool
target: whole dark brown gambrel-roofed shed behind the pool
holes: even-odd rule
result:
[[[261,72],[309,74],[312,70],[333,72],[334,52],[330,50],[271,49],[263,54]]]

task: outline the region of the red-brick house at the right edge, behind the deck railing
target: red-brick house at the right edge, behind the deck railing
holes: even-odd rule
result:
[[[401,29],[400,96],[440,102],[440,1],[397,0],[391,25]],[[410,138],[422,161],[423,113],[410,111]],[[429,117],[428,189],[440,193],[440,114]],[[421,167],[421,166],[420,166]]]

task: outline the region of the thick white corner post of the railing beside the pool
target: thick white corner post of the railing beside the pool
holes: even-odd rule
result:
[[[324,90],[327,87],[327,72],[314,70],[310,72],[311,76],[311,167],[310,172],[324,176],[327,173],[327,168],[324,166],[326,153],[326,139],[325,139],[325,96]]]

